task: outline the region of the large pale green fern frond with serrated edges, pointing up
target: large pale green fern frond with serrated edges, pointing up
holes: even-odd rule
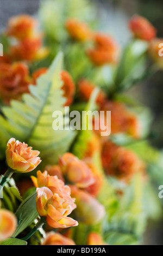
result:
[[[62,53],[59,53],[48,72],[37,79],[37,85],[29,87],[30,94],[23,95],[23,102],[13,100],[10,107],[2,109],[5,117],[0,116],[0,151],[5,153],[7,141],[16,138],[39,150],[41,159],[45,160],[43,164],[54,164],[68,150],[75,133],[52,127],[53,111],[64,114],[61,69]],[[66,122],[69,122],[67,118]]]

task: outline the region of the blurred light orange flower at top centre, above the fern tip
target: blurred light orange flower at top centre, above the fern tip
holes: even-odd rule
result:
[[[65,27],[70,36],[77,41],[87,41],[92,38],[92,32],[84,22],[68,19]]]

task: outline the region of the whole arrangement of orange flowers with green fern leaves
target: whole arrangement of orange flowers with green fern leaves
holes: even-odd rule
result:
[[[163,67],[161,39],[135,15],[123,49],[95,16],[87,0],[42,1],[37,18],[11,17],[1,35],[1,245],[137,245],[162,213],[152,114],[126,93]],[[103,116],[54,129],[65,107]]]

